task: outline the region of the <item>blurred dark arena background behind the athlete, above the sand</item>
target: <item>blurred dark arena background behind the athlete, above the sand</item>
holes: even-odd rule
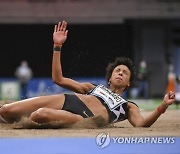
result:
[[[148,102],[175,90],[179,99],[180,0],[0,0],[1,100],[66,92],[51,81],[52,33],[62,20],[64,76],[105,84],[107,64],[127,56],[137,74],[124,97]],[[24,83],[23,61],[31,69]]]

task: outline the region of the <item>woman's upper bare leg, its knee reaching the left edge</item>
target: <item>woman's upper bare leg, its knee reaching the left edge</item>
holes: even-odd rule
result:
[[[65,97],[61,95],[40,96],[10,104],[0,108],[0,116],[6,122],[14,122],[22,116],[29,116],[39,108],[52,108],[60,110],[63,107]]]

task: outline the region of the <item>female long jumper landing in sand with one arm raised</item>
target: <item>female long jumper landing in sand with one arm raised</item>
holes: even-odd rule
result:
[[[5,104],[0,108],[1,123],[13,123],[25,116],[37,123],[60,121],[63,124],[73,124],[84,118],[102,116],[107,123],[127,119],[134,127],[149,127],[175,102],[175,93],[167,93],[162,104],[144,118],[135,103],[123,99],[121,95],[130,86],[134,76],[132,61],[126,57],[119,57],[108,65],[108,87],[79,83],[64,77],[60,59],[61,47],[68,35],[66,28],[65,21],[54,27],[52,80],[75,93],[39,96]]]

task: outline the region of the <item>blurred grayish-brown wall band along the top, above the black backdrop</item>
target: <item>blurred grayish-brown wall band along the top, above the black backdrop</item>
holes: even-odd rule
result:
[[[0,23],[122,23],[179,18],[178,0],[0,0]]]

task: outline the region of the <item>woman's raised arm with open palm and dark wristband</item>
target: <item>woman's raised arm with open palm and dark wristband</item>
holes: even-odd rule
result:
[[[53,41],[54,41],[54,52],[52,59],[52,80],[59,86],[72,90],[77,93],[86,93],[95,86],[91,83],[79,83],[75,80],[63,77],[61,67],[61,47],[67,39],[68,30],[66,30],[67,22],[59,22],[54,27]]]

